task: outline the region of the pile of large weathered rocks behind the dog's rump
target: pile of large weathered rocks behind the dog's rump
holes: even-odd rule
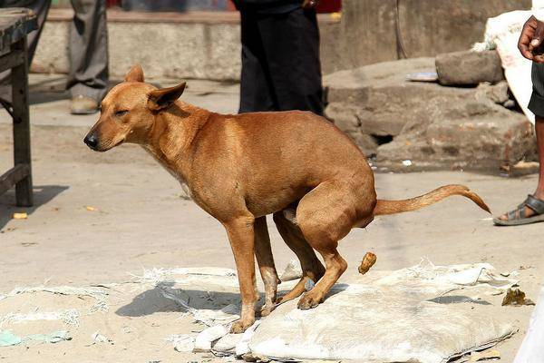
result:
[[[532,160],[532,124],[510,99],[496,54],[467,56],[477,59],[465,61],[457,76],[447,64],[459,65],[461,54],[439,56],[436,64],[416,58],[329,74],[325,114],[384,170],[491,171]],[[488,69],[479,73],[481,64]],[[437,66],[439,83],[407,80]],[[485,77],[491,79],[482,83]]]

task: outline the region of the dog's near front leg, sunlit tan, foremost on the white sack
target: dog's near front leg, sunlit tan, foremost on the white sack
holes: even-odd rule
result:
[[[241,217],[224,223],[236,261],[242,297],[241,317],[232,325],[230,330],[233,333],[242,333],[255,322],[255,305],[258,295],[255,284],[254,224],[253,217]]]

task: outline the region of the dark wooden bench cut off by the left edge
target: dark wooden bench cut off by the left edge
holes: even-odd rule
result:
[[[33,205],[28,113],[26,35],[37,29],[36,17],[25,8],[0,9],[0,72],[11,69],[12,101],[0,99],[14,123],[15,166],[0,176],[0,194],[15,185],[17,205]]]

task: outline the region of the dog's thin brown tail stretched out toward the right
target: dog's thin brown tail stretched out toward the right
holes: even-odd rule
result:
[[[484,211],[491,213],[487,204],[481,200],[480,196],[474,191],[464,185],[445,185],[434,191],[430,191],[419,197],[407,199],[403,201],[384,201],[378,200],[374,208],[374,215],[387,215],[402,213],[403,211],[416,211],[423,207],[427,207],[438,201],[442,201],[444,198],[451,197],[452,195],[462,195],[475,202]]]

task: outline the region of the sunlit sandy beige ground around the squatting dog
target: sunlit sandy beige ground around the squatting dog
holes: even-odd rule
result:
[[[138,146],[122,145],[106,153],[91,152],[83,136],[96,115],[72,116],[63,93],[55,93],[62,77],[33,77],[31,118],[35,205],[15,207],[14,191],[0,196],[0,294],[15,287],[85,286],[130,280],[142,268],[219,266],[234,268],[225,231],[192,201],[180,197],[178,182]],[[171,82],[170,82],[171,83]],[[166,84],[167,83],[163,83]],[[44,91],[48,91],[44,93]],[[191,82],[186,101],[223,113],[234,113],[236,84]],[[12,163],[11,125],[0,114],[0,171]],[[467,172],[381,173],[378,195],[400,199],[446,183],[463,183],[480,193],[491,209],[506,211],[531,192],[535,175],[503,179]],[[89,211],[86,207],[92,207]],[[14,220],[16,211],[28,213]],[[544,278],[543,225],[493,227],[490,216],[470,201],[452,198],[423,211],[378,218],[366,229],[352,231],[339,250],[349,263],[343,279],[357,276],[366,251],[378,256],[376,270],[396,270],[428,258],[435,264],[486,261],[499,271],[518,270],[520,288],[535,299]],[[269,221],[277,267],[294,255]],[[500,301],[500,300],[499,300]],[[520,327],[500,343],[501,361],[511,362],[527,329],[532,307],[503,308],[504,317]],[[77,348],[76,339],[40,348],[0,348],[5,361],[96,361],[137,358],[170,361],[184,357],[164,344],[162,327],[176,326],[173,313],[131,318],[141,331],[151,329],[154,342],[138,340],[128,350]],[[137,323],[137,321],[139,321]],[[162,322],[158,324],[159,322]],[[195,329],[180,321],[183,329]],[[92,333],[92,332],[91,332]],[[400,334],[402,332],[399,332]],[[143,333],[141,333],[143,334]],[[142,335],[139,335],[141,337]],[[127,343],[129,344],[129,343]],[[126,348],[125,348],[126,349]],[[128,359],[131,360],[131,359]]]

